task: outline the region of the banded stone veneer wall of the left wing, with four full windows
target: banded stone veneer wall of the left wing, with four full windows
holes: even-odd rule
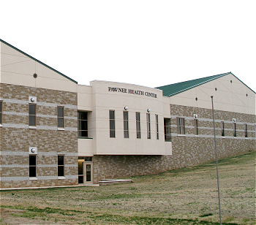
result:
[[[29,96],[37,97],[37,129],[29,129]],[[1,83],[1,101],[0,188],[78,184],[77,93]],[[57,106],[64,106],[64,130],[57,130]],[[29,147],[37,147],[37,180],[29,179]]]

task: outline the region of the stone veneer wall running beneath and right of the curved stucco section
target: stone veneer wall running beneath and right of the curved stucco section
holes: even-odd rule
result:
[[[198,115],[198,135],[195,135],[194,114]],[[212,110],[170,104],[172,156],[94,156],[94,183],[102,178],[122,178],[149,175],[170,169],[191,167],[215,159]],[[185,118],[185,135],[177,134],[176,118]],[[218,158],[255,150],[255,115],[214,110]],[[237,137],[233,137],[236,118]],[[221,135],[225,122],[225,137]],[[248,138],[244,136],[247,124]]]

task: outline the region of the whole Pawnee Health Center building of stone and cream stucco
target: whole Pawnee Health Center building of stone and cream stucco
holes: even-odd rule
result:
[[[255,91],[231,72],[78,85],[0,39],[0,188],[74,186],[255,150]]]

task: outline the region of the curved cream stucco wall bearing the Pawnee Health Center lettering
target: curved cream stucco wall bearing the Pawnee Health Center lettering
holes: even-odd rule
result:
[[[108,88],[125,88],[127,93],[109,91]],[[89,88],[79,87],[78,90],[78,109],[86,110],[86,104],[89,102]],[[130,85],[127,83],[113,83],[105,81],[91,82],[91,129],[93,138],[92,152],[94,155],[165,155],[171,154],[171,145],[165,145],[164,126],[163,126],[163,97],[162,91],[154,88],[147,88],[139,85]],[[142,94],[129,94],[129,89],[143,91]],[[87,93],[86,93],[87,92]],[[146,92],[157,94],[157,98],[145,96]],[[124,107],[128,107],[129,113],[129,138],[124,138]],[[151,139],[147,139],[146,113],[151,109]],[[168,106],[170,109],[170,106]],[[109,134],[109,110],[115,110],[116,115],[116,137],[110,138]],[[136,136],[135,113],[140,112],[141,138]],[[159,140],[156,138],[155,115],[159,116]],[[170,113],[169,113],[170,114]],[[97,120],[96,120],[97,118]],[[82,143],[85,140],[78,140],[78,152],[85,153],[85,150],[79,150],[80,146],[86,146]],[[91,150],[88,148],[88,153]]]

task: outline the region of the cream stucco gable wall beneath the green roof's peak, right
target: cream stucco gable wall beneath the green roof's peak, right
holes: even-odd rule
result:
[[[169,103],[211,109],[211,96],[215,110],[255,115],[255,93],[232,74],[171,96]]]

